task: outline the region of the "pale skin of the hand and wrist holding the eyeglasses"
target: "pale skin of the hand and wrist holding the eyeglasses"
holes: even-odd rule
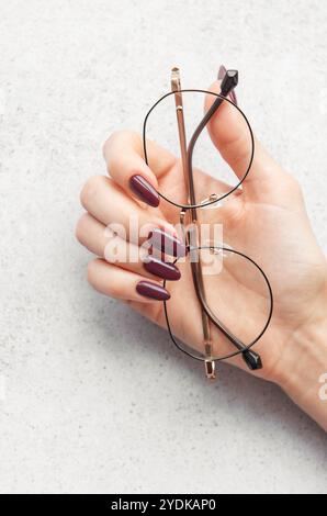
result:
[[[218,81],[211,88],[218,92]],[[206,109],[212,101],[207,98]],[[240,177],[249,141],[244,137],[239,117],[233,114],[230,105],[224,104],[219,109],[208,130],[217,150]],[[149,168],[143,158],[140,136],[133,132],[111,135],[103,154],[109,176],[93,177],[83,187],[81,203],[86,213],[77,225],[77,238],[98,257],[89,263],[88,280],[99,292],[128,303],[165,327],[162,303],[136,291],[142,280],[156,284],[162,284],[162,280],[147,272],[142,260],[109,262],[105,227],[112,223],[124,225],[127,237],[121,240],[122,249],[133,246],[133,250],[137,250],[145,238],[138,243],[128,242],[131,215],[137,217],[140,226],[150,224],[172,233],[172,225],[179,222],[179,210],[162,200],[158,207],[140,202],[129,188],[129,179],[139,175],[156,190],[171,190],[183,202],[185,192],[180,161],[168,150],[149,143]],[[208,176],[202,176],[201,184],[204,197],[207,192],[222,191],[222,183]],[[313,234],[298,182],[256,138],[253,164],[241,192],[234,194],[222,207],[206,211],[205,222],[223,223],[224,242],[260,262],[273,288],[273,317],[255,347],[260,352],[263,369],[251,373],[279,384],[327,430],[327,401],[319,396],[319,379],[327,372],[327,262]],[[144,251],[140,254],[143,256]],[[201,317],[190,268],[188,263],[181,263],[179,269],[181,279],[167,287],[171,294],[169,307],[174,332],[193,348],[202,349]],[[247,306],[253,305],[255,313],[256,285],[234,274],[224,281],[223,289],[222,283],[215,289],[213,278],[212,302],[216,296],[221,306],[224,291],[237,291]],[[227,302],[225,311],[227,317]],[[219,350],[222,346],[226,351],[233,350],[218,330],[212,328],[212,332],[214,346],[219,346]],[[248,370],[240,357],[229,361]]]

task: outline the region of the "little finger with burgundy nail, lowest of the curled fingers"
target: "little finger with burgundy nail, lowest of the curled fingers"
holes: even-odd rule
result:
[[[167,301],[169,292],[157,281],[149,281],[140,274],[120,269],[104,260],[89,263],[88,281],[102,294],[123,301],[151,303]]]

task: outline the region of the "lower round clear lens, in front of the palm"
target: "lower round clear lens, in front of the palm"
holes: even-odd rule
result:
[[[198,279],[194,285],[191,280],[193,289],[187,293],[179,293],[174,287],[173,299],[182,300],[179,310],[173,307],[172,298],[165,304],[168,328],[178,348],[203,360],[205,324],[210,326],[215,360],[251,348],[263,335],[272,313],[271,288],[262,269],[244,254],[223,246],[195,248],[182,267],[185,274],[195,270]],[[169,285],[167,282],[168,290]],[[199,290],[203,304],[196,296]],[[188,322],[183,335],[180,321]]]

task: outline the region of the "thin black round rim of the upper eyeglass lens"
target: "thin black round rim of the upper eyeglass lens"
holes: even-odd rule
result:
[[[252,128],[251,128],[251,125],[246,116],[246,114],[243,112],[243,110],[237,105],[235,104],[232,100],[227,99],[226,97],[222,96],[221,93],[215,93],[213,91],[208,91],[208,90],[201,90],[201,89],[181,89],[179,91],[180,93],[185,93],[185,92],[191,92],[191,93],[205,93],[205,94],[212,94],[218,99],[222,99],[222,100],[225,100],[226,102],[228,102],[229,104],[234,105],[237,111],[241,114],[241,116],[244,117],[248,128],[249,128],[249,133],[250,133],[250,138],[251,138],[251,153],[250,153],[250,159],[249,159],[249,165],[246,169],[246,172],[245,175],[243,176],[243,178],[238,181],[238,183],[233,187],[228,192],[224,193],[223,195],[221,195],[219,198],[215,198],[214,200],[212,201],[206,201],[206,202],[203,202],[203,203],[198,203],[198,204],[180,204],[178,202],[174,202],[174,201],[171,201],[170,199],[168,199],[166,195],[164,195],[164,193],[161,193],[159,190],[157,190],[157,193],[158,195],[161,198],[161,199],[165,199],[165,201],[169,202],[170,204],[177,206],[177,207],[180,207],[181,210],[192,210],[192,209],[198,209],[198,207],[205,207],[205,206],[210,206],[211,204],[215,204],[215,203],[218,203],[221,202],[223,199],[226,199],[228,195],[230,195],[233,192],[235,192],[241,184],[243,182],[245,181],[245,179],[247,178],[250,169],[251,169],[251,166],[252,166],[252,162],[253,162],[253,157],[255,157],[255,136],[253,136],[253,132],[252,132]],[[147,144],[146,144],[146,131],[147,131],[147,121],[148,121],[148,117],[149,115],[151,114],[151,112],[154,111],[154,109],[160,103],[162,102],[165,99],[167,99],[168,97],[170,96],[173,96],[176,92],[174,91],[169,91],[168,93],[165,93],[162,97],[160,97],[160,99],[157,100],[157,102],[155,102],[155,104],[151,105],[151,108],[149,109],[149,111],[147,112],[147,114],[145,115],[145,119],[144,119],[144,122],[143,122],[143,152],[144,152],[144,160],[146,162],[147,166],[149,166],[149,162],[148,162],[148,154],[147,154]]]

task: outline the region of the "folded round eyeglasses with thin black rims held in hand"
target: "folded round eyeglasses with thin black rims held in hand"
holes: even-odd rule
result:
[[[211,209],[208,225],[212,226],[213,216],[219,210],[222,202],[227,198],[232,199],[239,192],[243,182],[250,172],[253,160],[253,134],[246,115],[236,103],[234,88],[237,83],[237,70],[226,70],[222,79],[219,93],[199,89],[181,89],[179,69],[173,68],[171,71],[171,91],[162,96],[150,108],[143,125],[144,158],[146,164],[151,167],[147,144],[148,133],[154,133],[157,130],[159,137],[154,138],[151,134],[151,139],[159,139],[160,142],[165,133],[162,127],[169,130],[176,127],[176,122],[172,124],[171,120],[167,119],[172,113],[169,104],[171,104],[171,101],[173,102],[178,131],[177,134],[168,131],[168,146],[173,147],[173,143],[177,144],[180,160],[176,173],[183,173],[184,189],[180,189],[178,187],[179,181],[177,181],[173,191],[171,191],[171,186],[169,191],[166,191],[162,187],[158,194],[166,202],[180,209],[179,220],[188,249],[188,266],[190,267],[190,276],[196,294],[195,299],[198,300],[198,306],[190,306],[189,312],[185,307],[184,312],[188,312],[192,318],[193,312],[194,316],[200,315],[202,322],[201,328],[199,328],[202,341],[201,349],[189,347],[177,337],[176,333],[178,332],[173,329],[173,317],[170,313],[172,298],[169,301],[164,301],[164,309],[167,328],[173,344],[189,357],[203,361],[208,379],[215,378],[216,361],[226,360],[237,355],[241,355],[249,369],[258,370],[262,368],[260,356],[251,348],[267,330],[273,310],[272,289],[261,267],[245,253],[234,249],[228,243],[217,243],[217,238],[213,239],[211,235],[203,243],[203,232],[201,233],[205,212]],[[201,109],[203,109],[205,100],[212,99],[213,101],[205,114],[200,115],[200,122],[199,117],[196,120],[195,116],[194,120],[193,116],[192,123],[195,124],[195,130],[192,131],[192,136],[188,143],[188,125],[184,114],[185,104],[191,104],[191,99],[192,101],[195,99],[196,102],[200,99]],[[208,137],[205,143],[204,136],[211,133],[210,122],[213,115],[221,116],[222,106],[226,103],[230,111],[229,116],[237,117],[238,122],[241,123],[243,138],[248,138],[247,165],[244,170],[238,171],[236,181],[234,173],[230,173],[229,167],[224,161],[217,167],[215,162],[216,155],[212,160],[214,166],[212,164],[211,166],[214,170],[219,169],[219,177],[216,177],[216,172],[210,176],[204,175],[194,166],[196,153],[200,155],[202,162],[203,158],[210,154],[208,149],[213,148],[211,138]],[[193,109],[189,109],[188,113],[193,115]],[[208,131],[204,132],[204,128]],[[226,124],[225,130],[228,132],[228,124]],[[228,183],[222,181],[226,177]],[[230,186],[232,177],[234,184]],[[207,190],[213,186],[218,192]],[[177,261],[178,258],[174,262]],[[164,281],[164,287],[167,287],[167,280]],[[181,293],[181,295],[183,294],[190,299],[185,293]],[[188,299],[184,303],[188,303]],[[223,337],[219,339],[218,335]],[[241,335],[241,338],[239,335]]]

